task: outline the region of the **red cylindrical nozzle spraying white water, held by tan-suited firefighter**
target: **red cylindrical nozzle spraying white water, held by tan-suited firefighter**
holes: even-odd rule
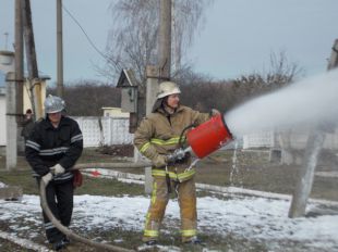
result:
[[[203,159],[233,138],[224,116],[219,114],[191,129],[186,134],[186,139],[193,152]]]

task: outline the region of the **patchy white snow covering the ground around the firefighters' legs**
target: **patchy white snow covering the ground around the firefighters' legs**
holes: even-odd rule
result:
[[[121,227],[141,232],[149,198],[76,196],[74,204],[73,227],[84,231],[97,227],[107,230]],[[288,218],[289,206],[289,201],[253,197],[227,200],[198,198],[198,230],[222,237],[232,234],[239,238],[269,243],[294,241],[311,248],[309,251],[338,251],[337,213],[291,219]],[[311,203],[309,209],[318,206]],[[17,217],[24,220],[19,224]],[[167,228],[179,228],[177,200],[169,201],[165,218]],[[39,198],[25,194],[21,202],[0,201],[0,220],[9,222],[14,230],[24,228],[22,225],[25,222],[40,225]]]

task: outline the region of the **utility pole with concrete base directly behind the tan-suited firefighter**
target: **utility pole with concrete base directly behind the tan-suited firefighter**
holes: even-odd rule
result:
[[[147,66],[146,75],[146,114],[152,113],[156,101],[158,84],[170,79],[171,64],[171,0],[160,0],[158,66]],[[135,150],[136,151],[136,150]],[[145,192],[152,192],[152,167],[145,168]]]

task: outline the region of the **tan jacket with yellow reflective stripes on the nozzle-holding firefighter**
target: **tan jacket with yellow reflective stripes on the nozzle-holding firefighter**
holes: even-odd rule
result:
[[[134,144],[153,162],[153,176],[166,176],[165,156],[179,148],[182,130],[192,124],[197,126],[209,117],[208,113],[200,113],[180,105],[171,115],[160,108],[141,122],[134,135]],[[190,164],[190,158],[180,163],[169,164],[167,168],[170,178],[177,181],[190,179],[195,174],[194,168],[188,169]]]

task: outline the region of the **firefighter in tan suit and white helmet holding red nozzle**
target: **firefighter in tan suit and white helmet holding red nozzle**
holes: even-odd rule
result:
[[[168,156],[180,147],[184,128],[197,126],[219,112],[212,110],[212,113],[200,113],[180,105],[180,93],[174,83],[161,83],[153,113],[141,122],[134,135],[136,148],[153,163],[153,192],[143,237],[148,245],[157,244],[171,188],[178,194],[182,242],[201,243],[196,236],[195,169],[190,167],[191,158],[185,155],[179,161],[169,162]]]

